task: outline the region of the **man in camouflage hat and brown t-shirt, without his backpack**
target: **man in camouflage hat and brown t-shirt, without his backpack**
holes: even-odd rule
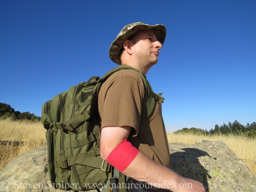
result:
[[[166,28],[160,24],[127,25],[110,46],[110,59],[146,75],[158,62],[165,36]],[[135,182],[146,182],[173,192],[204,192],[200,182],[168,168],[170,154],[161,104],[155,102],[152,114],[140,125],[144,96],[142,77],[135,70],[115,72],[102,84],[98,97],[101,157]],[[192,188],[179,188],[180,184],[191,184]]]

